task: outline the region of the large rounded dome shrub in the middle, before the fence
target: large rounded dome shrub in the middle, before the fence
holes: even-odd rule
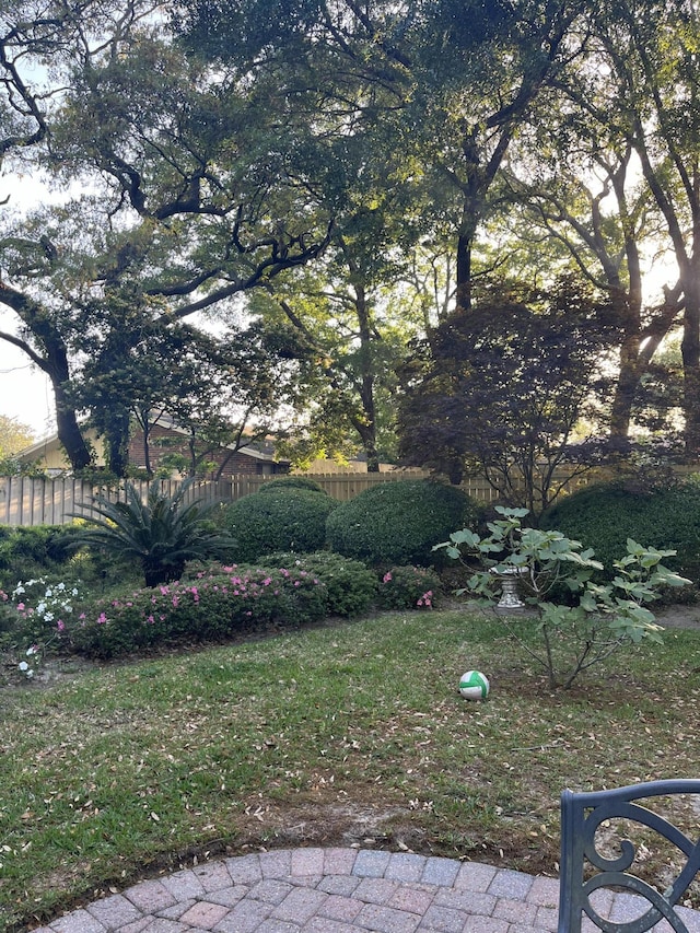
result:
[[[427,479],[374,486],[332,512],[326,523],[332,550],[370,564],[429,565],[433,545],[470,524],[475,502],[454,486]]]

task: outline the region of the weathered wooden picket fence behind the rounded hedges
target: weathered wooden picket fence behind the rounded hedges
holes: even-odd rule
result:
[[[310,475],[329,495],[341,502],[353,499],[365,489],[380,482],[396,482],[401,479],[427,477],[421,470],[392,470],[380,474],[317,474]],[[257,492],[264,482],[273,476],[234,476],[230,479],[201,480],[192,485],[187,500],[206,502],[232,502]],[[584,480],[585,482],[585,480]],[[579,485],[579,483],[576,483]],[[136,481],[136,488],[142,499],[148,493],[147,481]],[[172,494],[179,486],[178,480],[162,480],[161,488]],[[482,477],[468,477],[462,488],[478,502],[493,502],[497,494]],[[62,525],[72,521],[74,515],[92,514],[90,502],[102,493],[112,501],[122,500],[124,488],[118,490],[100,489],[80,479],[63,477],[60,479],[34,478],[26,476],[0,477],[0,525]]]

